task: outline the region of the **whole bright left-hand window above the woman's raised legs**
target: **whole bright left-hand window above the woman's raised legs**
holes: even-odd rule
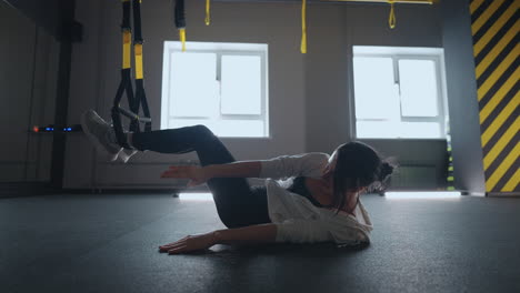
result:
[[[161,129],[204,124],[219,137],[267,138],[268,46],[164,42]]]

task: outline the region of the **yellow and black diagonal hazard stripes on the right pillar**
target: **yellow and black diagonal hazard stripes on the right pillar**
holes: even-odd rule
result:
[[[519,192],[518,0],[471,0],[471,32],[487,192]]]

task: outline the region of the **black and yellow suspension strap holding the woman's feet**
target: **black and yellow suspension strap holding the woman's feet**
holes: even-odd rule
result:
[[[131,7],[132,4],[132,7]],[[144,131],[151,131],[150,110],[148,108],[147,95],[143,84],[142,69],[142,33],[141,33],[141,0],[122,0],[123,20],[122,43],[123,59],[121,69],[121,82],[119,83],[116,98],[112,105],[112,122],[116,131],[116,137],[121,146],[131,149],[124,138],[124,131],[121,122],[121,114],[130,119],[130,131],[140,132],[139,122],[144,123]],[[136,58],[136,94],[132,89],[132,69],[131,69],[131,42],[132,28],[130,26],[130,10],[133,10],[133,26],[136,27],[136,36],[133,38],[133,52]],[[128,105],[130,110],[121,107],[123,93],[127,94]],[[142,104],[144,117],[139,115],[139,108]]]

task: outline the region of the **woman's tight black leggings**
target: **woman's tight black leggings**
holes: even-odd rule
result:
[[[201,165],[234,162],[234,158],[204,125],[133,133],[130,142],[140,151],[187,153],[196,151]],[[208,181],[220,220],[228,228],[270,223],[266,190],[251,188],[244,178]]]

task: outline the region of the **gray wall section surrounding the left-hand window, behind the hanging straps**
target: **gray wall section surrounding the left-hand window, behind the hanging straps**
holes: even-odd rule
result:
[[[178,40],[169,1],[142,6],[146,89],[154,128],[160,122],[163,41]],[[267,159],[306,150],[303,55],[299,53],[297,4],[212,3],[212,24],[204,24],[204,1],[187,1],[189,41],[269,43],[271,139],[226,139],[237,160]],[[119,84],[121,60],[120,1],[78,1],[77,19],[84,40],[74,44],[69,122],[78,123],[88,108],[109,118]],[[293,21],[289,21],[293,19]],[[97,155],[97,154],[96,154]],[[82,137],[70,137],[66,155],[66,188],[159,186],[170,163],[192,155],[143,153],[131,164],[107,163]]]

